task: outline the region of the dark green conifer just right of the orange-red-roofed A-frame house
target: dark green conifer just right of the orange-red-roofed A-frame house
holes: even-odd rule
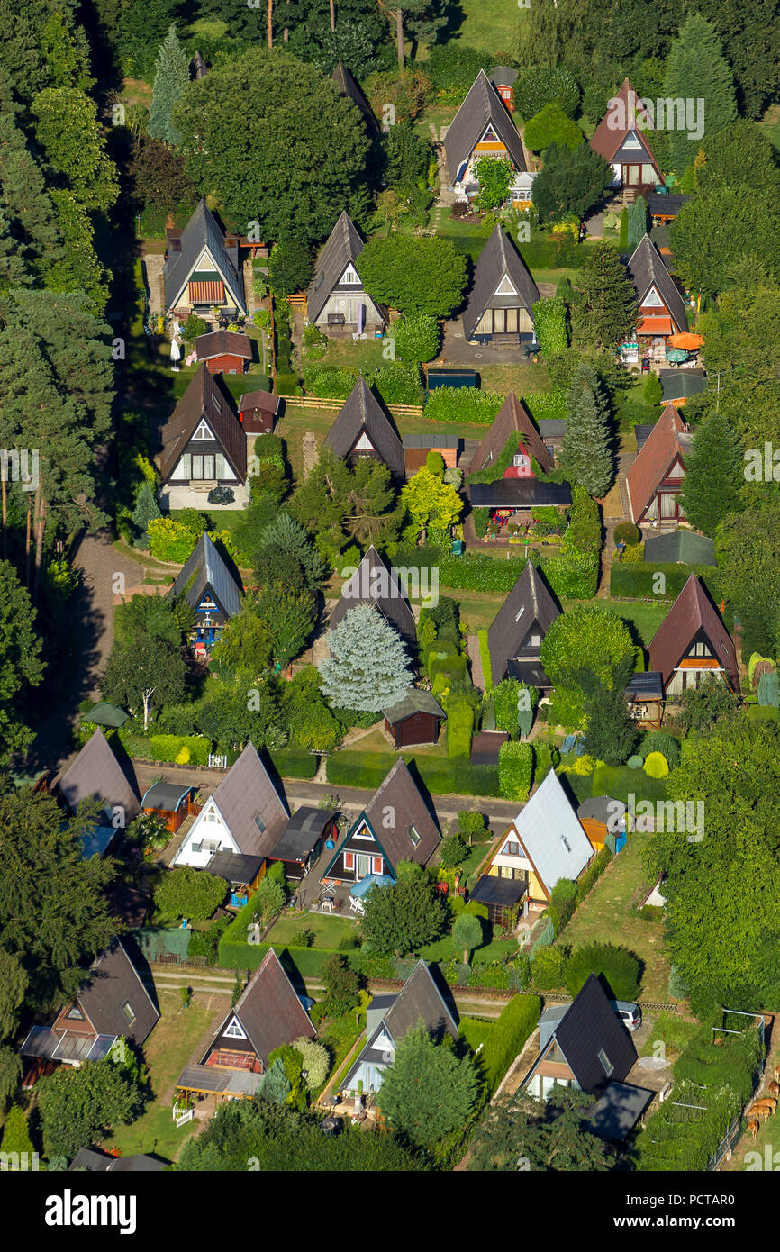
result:
[[[742,447],[729,418],[710,413],[696,428],[694,446],[685,457],[680,503],[691,526],[714,536],[726,513],[741,511],[744,468]]]

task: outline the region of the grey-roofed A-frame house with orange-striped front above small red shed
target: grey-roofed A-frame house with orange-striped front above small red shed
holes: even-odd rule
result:
[[[165,308],[177,317],[203,316],[214,305],[227,316],[247,313],[238,238],[223,234],[205,200],[180,235],[169,234],[163,284]]]

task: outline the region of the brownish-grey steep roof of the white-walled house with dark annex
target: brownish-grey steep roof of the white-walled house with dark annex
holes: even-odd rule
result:
[[[230,766],[212,800],[244,855],[270,856],[289,813],[268,770],[249,742]],[[259,816],[263,830],[257,823]]]

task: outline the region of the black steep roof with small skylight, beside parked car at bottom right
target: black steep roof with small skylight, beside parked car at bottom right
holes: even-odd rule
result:
[[[555,1038],[577,1084],[588,1094],[600,1094],[608,1083],[622,1082],[637,1059],[634,1040],[595,974],[588,975],[563,1013]],[[600,1052],[612,1067],[608,1074],[598,1059]]]

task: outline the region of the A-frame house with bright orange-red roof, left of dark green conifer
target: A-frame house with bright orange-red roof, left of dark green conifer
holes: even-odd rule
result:
[[[675,526],[685,518],[677,493],[692,436],[674,404],[667,404],[626,476],[631,520]]]

